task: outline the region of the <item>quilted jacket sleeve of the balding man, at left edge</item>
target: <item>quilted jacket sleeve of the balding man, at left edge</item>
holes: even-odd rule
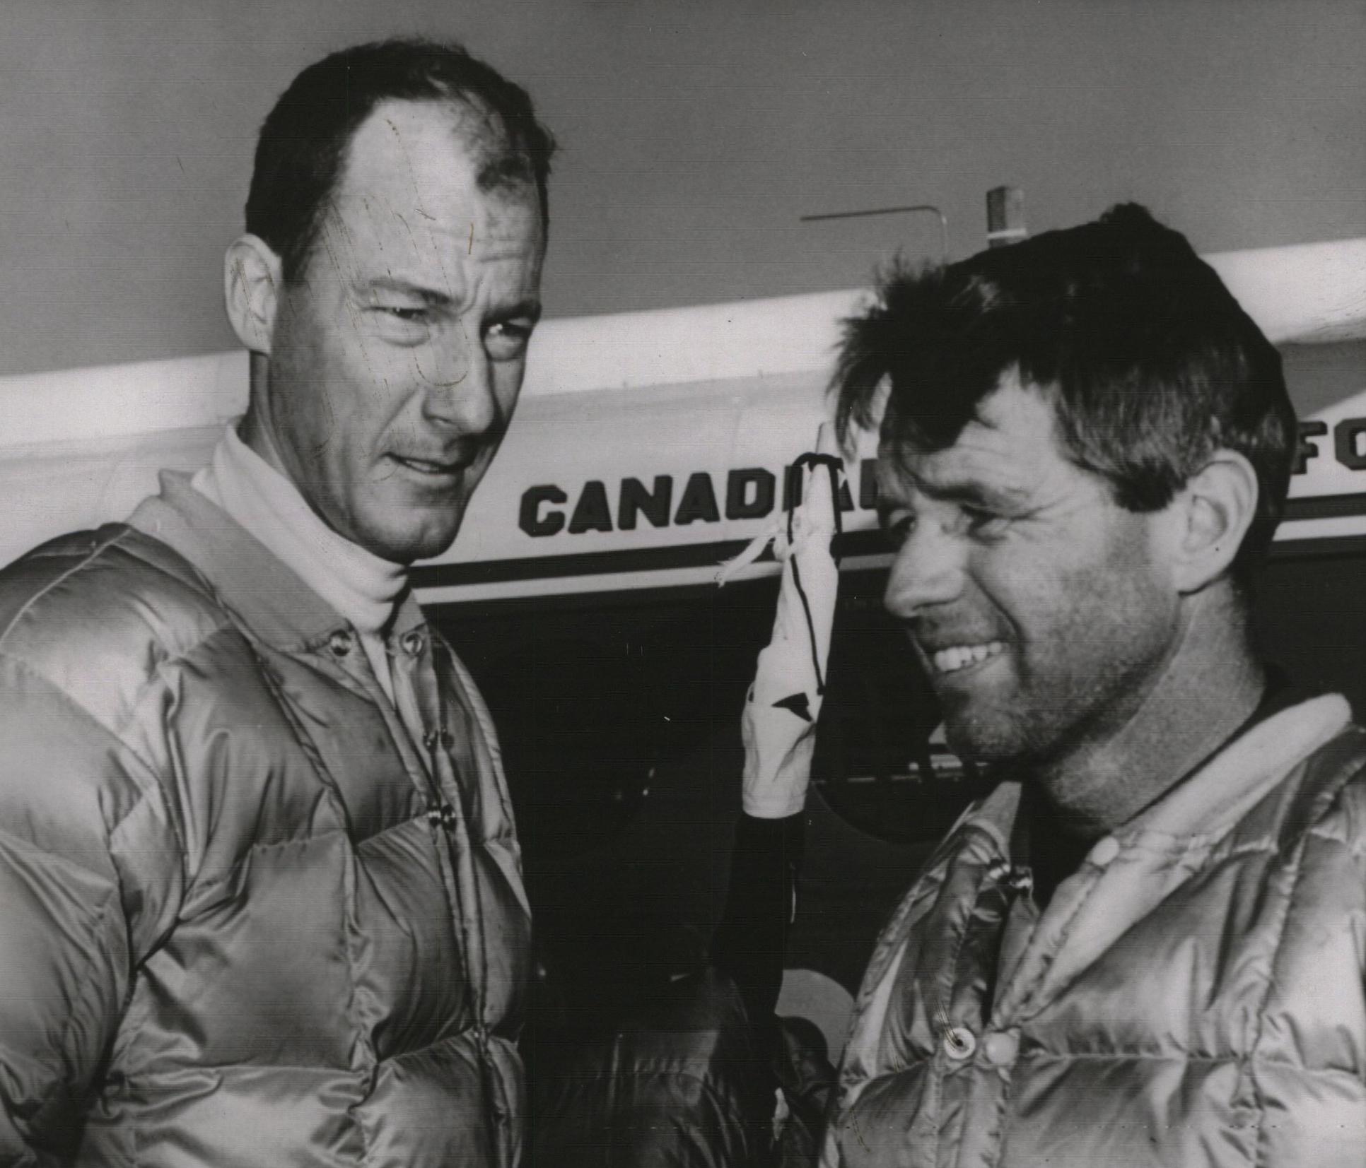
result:
[[[146,764],[0,648],[0,1164],[79,1145],[135,963],[175,917],[179,857]]]

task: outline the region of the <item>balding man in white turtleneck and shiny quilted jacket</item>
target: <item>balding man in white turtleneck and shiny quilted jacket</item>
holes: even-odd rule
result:
[[[0,1163],[518,1161],[518,845],[407,568],[516,404],[550,151],[459,46],[305,70],[227,252],[246,418],[0,573]]]

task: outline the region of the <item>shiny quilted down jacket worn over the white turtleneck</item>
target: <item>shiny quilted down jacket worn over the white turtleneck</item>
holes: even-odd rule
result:
[[[180,476],[0,573],[0,1164],[515,1163],[507,790],[411,599],[395,641],[421,742]]]

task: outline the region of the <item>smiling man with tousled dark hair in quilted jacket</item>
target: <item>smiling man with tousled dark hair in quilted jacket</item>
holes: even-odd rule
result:
[[[859,995],[825,1163],[1347,1165],[1366,1149],[1366,735],[1270,682],[1249,572],[1280,359],[1137,206],[848,323],[887,607],[1000,785]]]

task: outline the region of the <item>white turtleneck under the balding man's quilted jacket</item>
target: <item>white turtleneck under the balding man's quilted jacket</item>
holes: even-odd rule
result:
[[[190,483],[355,628],[392,703],[384,632],[408,583],[404,565],[381,559],[332,531],[299,488],[247,446],[232,426]]]

